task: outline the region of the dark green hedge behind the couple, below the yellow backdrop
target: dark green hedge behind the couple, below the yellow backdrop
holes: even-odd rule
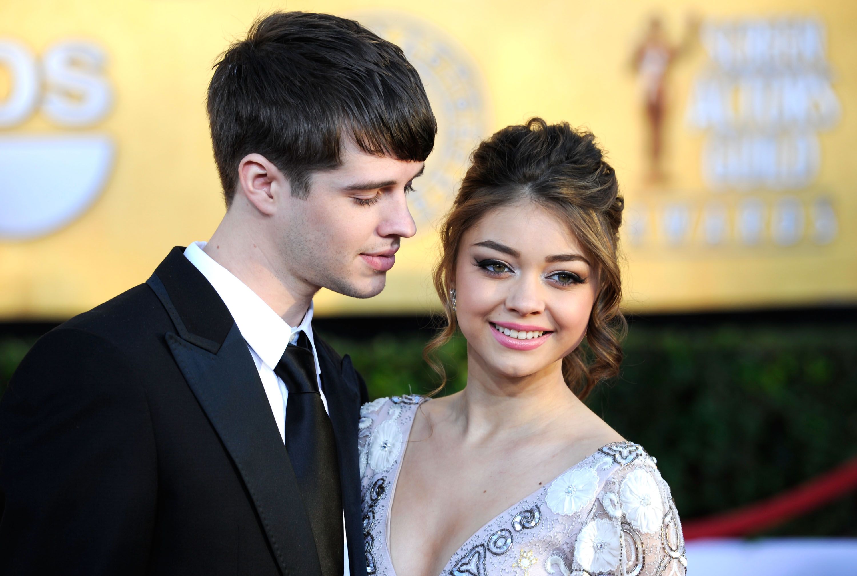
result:
[[[622,375],[588,404],[657,457],[685,519],[757,502],[857,454],[857,330],[843,325],[632,325]],[[372,397],[424,393],[425,334],[331,339]],[[0,389],[32,340],[0,340]],[[466,379],[460,337],[442,350],[446,391]],[[768,534],[857,536],[857,496]]]

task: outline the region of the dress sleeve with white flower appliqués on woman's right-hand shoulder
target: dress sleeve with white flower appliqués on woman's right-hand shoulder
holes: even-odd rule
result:
[[[575,539],[571,569],[548,562],[548,573],[685,575],[685,541],[669,486],[655,459],[637,448],[632,461],[612,464]]]

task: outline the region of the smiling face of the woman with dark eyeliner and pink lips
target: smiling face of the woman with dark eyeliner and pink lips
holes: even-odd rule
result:
[[[455,320],[471,355],[521,377],[552,370],[578,348],[597,275],[564,222],[520,199],[489,212],[460,241]]]

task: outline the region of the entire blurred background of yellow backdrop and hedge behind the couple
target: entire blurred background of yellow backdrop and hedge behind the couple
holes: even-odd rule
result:
[[[588,404],[656,456],[692,574],[857,574],[857,3],[0,2],[0,394],[41,334],[212,234],[207,82],[275,9],[400,45],[438,117],[387,289],[315,299],[370,395],[437,384],[435,230],[476,143],[588,128],[626,198],[630,319]],[[464,342],[442,355],[460,389]]]

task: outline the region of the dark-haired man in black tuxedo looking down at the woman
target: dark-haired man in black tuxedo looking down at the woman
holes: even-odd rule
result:
[[[51,330],[0,402],[0,573],[366,571],[366,387],[312,298],[384,288],[434,116],[398,47],[294,12],[225,52],[207,110],[212,239]]]

